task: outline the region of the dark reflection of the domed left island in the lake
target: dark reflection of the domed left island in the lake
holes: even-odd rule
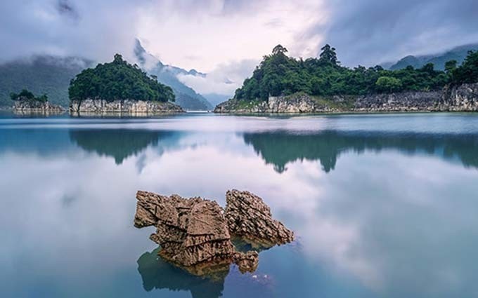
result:
[[[153,130],[70,130],[70,139],[86,151],[93,151],[103,156],[112,156],[116,164],[136,155],[150,144],[157,144],[160,139],[171,137],[172,132]]]

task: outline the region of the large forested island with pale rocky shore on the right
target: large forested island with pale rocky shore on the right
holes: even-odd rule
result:
[[[398,70],[343,67],[335,48],[318,58],[295,59],[283,46],[264,56],[233,99],[216,112],[478,111],[478,52],[462,65],[432,63]]]

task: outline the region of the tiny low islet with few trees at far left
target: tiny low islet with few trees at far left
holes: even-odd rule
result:
[[[20,93],[11,93],[10,98],[15,102],[15,114],[60,114],[65,111],[63,107],[51,104],[46,94],[35,96],[27,89],[21,90]]]

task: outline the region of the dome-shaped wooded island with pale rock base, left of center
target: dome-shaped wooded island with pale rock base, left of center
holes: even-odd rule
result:
[[[70,113],[151,115],[181,113],[171,87],[116,54],[112,62],[85,69],[68,88]]]

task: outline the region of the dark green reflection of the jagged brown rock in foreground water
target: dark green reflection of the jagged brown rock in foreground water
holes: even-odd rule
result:
[[[188,290],[193,298],[221,297],[228,271],[212,277],[199,277],[179,269],[158,257],[157,251],[145,252],[138,259],[138,271],[146,291],[153,289]]]

